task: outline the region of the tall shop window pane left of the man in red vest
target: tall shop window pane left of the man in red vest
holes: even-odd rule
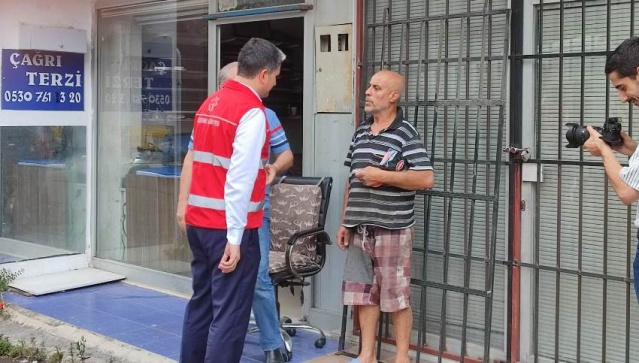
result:
[[[191,253],[175,212],[193,119],[208,95],[206,12],[203,6],[190,18],[165,14],[167,21],[157,23],[122,15],[101,19],[100,258],[190,273]]]

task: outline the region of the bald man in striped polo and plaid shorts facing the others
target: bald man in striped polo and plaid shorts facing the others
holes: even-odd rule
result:
[[[374,363],[380,311],[390,312],[397,341],[395,363],[408,363],[413,322],[410,255],[415,191],[432,188],[434,172],[417,130],[397,104],[404,79],[382,70],[366,90],[372,115],[351,141],[350,168],[337,244],[348,250],[342,284],[345,305],[359,306],[362,350],[351,363]]]

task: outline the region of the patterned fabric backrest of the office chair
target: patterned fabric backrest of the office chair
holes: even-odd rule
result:
[[[284,252],[297,232],[324,228],[332,183],[331,177],[285,177],[271,186],[271,251]],[[315,240],[304,237],[294,252],[315,260]]]

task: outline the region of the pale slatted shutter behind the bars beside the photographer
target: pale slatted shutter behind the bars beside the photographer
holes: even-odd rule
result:
[[[559,4],[536,6],[538,19],[543,10],[542,31],[537,27],[543,53],[560,53],[560,40],[563,53],[607,50],[607,4],[605,1],[586,4],[583,50],[582,2],[565,3],[563,33]],[[630,4],[611,4],[610,9],[610,49],[614,49],[630,35]],[[542,358],[572,362],[577,361],[579,352],[583,361],[622,362],[626,361],[627,339],[629,356],[639,356],[639,334],[636,328],[630,328],[632,324],[627,325],[630,321],[626,314],[627,294],[631,299],[631,315],[636,316],[639,311],[632,285],[623,282],[630,277],[632,256],[628,252],[634,253],[636,243],[636,231],[630,227],[635,207],[629,210],[618,201],[599,166],[600,158],[584,152],[583,162],[598,164],[584,165],[579,149],[563,148],[564,123],[579,123],[582,116],[586,125],[604,123],[608,89],[605,55],[586,55],[583,68],[580,56],[563,57],[563,77],[560,59],[556,55],[538,60],[541,84],[536,99],[536,158],[544,164],[544,181],[537,190],[538,258],[542,266],[565,269],[556,272],[542,267],[539,272],[538,354]],[[622,117],[623,127],[628,130],[632,127],[628,124],[628,106],[618,101],[615,90],[609,91],[610,116]],[[627,162],[625,157],[619,160]],[[577,276],[580,269],[585,274],[581,282]],[[608,281],[603,274],[608,274]]]

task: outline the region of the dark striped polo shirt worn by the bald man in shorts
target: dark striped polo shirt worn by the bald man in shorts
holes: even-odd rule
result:
[[[355,131],[344,165],[350,168],[350,191],[343,224],[360,224],[386,229],[403,229],[415,224],[415,191],[390,185],[367,187],[355,177],[367,166],[394,171],[432,170],[424,143],[417,130],[404,120],[401,108],[393,123],[378,135],[371,133],[373,118]]]

